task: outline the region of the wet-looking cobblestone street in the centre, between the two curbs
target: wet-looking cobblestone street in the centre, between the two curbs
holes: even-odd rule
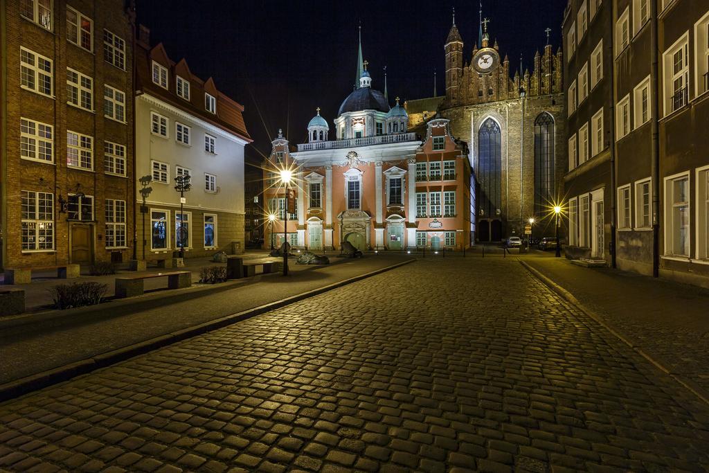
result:
[[[11,471],[708,465],[706,406],[514,258],[419,260],[0,405]]]

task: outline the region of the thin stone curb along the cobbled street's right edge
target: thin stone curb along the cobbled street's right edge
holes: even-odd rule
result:
[[[659,369],[661,372],[668,374],[669,377],[671,377],[683,387],[688,389],[688,391],[691,391],[692,394],[697,396],[701,401],[703,401],[704,404],[707,404],[709,406],[709,393],[705,391],[705,389],[703,389],[701,386],[698,386],[698,384],[693,382],[691,379],[687,379],[682,374],[673,372],[672,369],[668,367],[669,363],[663,362],[660,357],[650,355],[648,352],[643,350],[642,347],[633,343],[632,340],[623,335],[620,330],[615,328],[607,321],[603,320],[603,318],[599,316],[596,312],[591,311],[591,309],[589,308],[586,308],[584,304],[581,304],[579,299],[576,299],[576,297],[574,297],[569,291],[566,291],[566,289],[564,289],[562,286],[559,286],[559,284],[552,281],[552,279],[547,277],[545,274],[542,274],[539,269],[531,267],[525,261],[519,260],[519,262],[521,265],[523,265],[523,267],[525,267],[525,269],[527,269],[527,271],[532,274],[533,277],[540,279],[540,281],[546,286],[548,286],[549,289],[552,289],[552,291],[559,294],[559,296],[562,296],[562,298],[566,299],[566,301],[576,306],[579,311],[585,313],[586,316],[590,317],[591,319],[593,319],[593,321],[598,323],[598,325],[601,325],[603,328],[605,328],[605,330],[608,330],[610,333],[612,333],[616,338],[618,338],[618,340],[621,340],[623,343],[625,343],[625,345],[630,347],[638,355],[642,356],[645,360],[650,362],[651,365]]]

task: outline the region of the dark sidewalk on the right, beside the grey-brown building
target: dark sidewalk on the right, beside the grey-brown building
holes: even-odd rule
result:
[[[565,258],[520,257],[671,374],[709,393],[709,290]]]

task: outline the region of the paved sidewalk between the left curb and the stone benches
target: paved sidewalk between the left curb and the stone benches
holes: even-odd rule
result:
[[[367,255],[356,260],[330,255],[331,264],[327,266],[296,265],[291,261],[288,277],[258,274],[202,288],[160,291],[89,308],[55,311],[75,313],[1,330],[0,384],[408,260],[412,259],[406,255]]]

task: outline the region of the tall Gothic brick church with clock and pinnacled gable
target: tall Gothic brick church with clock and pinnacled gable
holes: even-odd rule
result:
[[[535,238],[554,235],[549,207],[562,199],[566,170],[562,52],[537,52],[532,73],[510,76],[481,18],[478,42],[464,58],[453,25],[445,41],[445,96],[410,100],[411,123],[450,120],[452,135],[470,145],[476,185],[475,233],[479,242],[520,235],[535,218]]]

